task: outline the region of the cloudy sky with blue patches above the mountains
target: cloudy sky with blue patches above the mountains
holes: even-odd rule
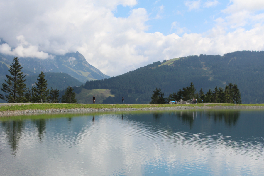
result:
[[[264,50],[263,0],[0,0],[0,23],[0,53],[79,51],[111,77],[177,57]]]

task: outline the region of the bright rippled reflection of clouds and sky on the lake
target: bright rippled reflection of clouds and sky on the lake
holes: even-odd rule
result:
[[[155,126],[126,115],[122,120],[121,115],[101,115],[94,121],[88,116],[65,122],[51,120],[43,128],[26,123],[16,133],[13,158],[4,154],[13,145],[11,131],[0,128],[0,159],[8,158],[17,169],[10,175],[19,175],[24,166],[27,175],[263,174],[263,138],[173,131],[158,126],[161,122]],[[26,155],[26,148],[34,154]],[[10,169],[2,164],[0,168]]]

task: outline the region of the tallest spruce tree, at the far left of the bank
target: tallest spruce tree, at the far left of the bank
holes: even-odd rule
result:
[[[18,57],[14,57],[12,65],[9,67],[10,75],[6,75],[6,83],[2,84],[1,90],[8,95],[0,94],[2,100],[8,103],[20,103],[25,100],[24,92],[26,91],[26,84],[24,83],[26,75],[21,72],[22,68],[18,62]]]

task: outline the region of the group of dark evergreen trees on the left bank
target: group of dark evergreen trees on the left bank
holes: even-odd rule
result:
[[[36,87],[31,89],[26,88],[24,83],[26,75],[21,72],[23,67],[19,64],[18,57],[13,59],[12,65],[9,67],[10,75],[6,75],[7,80],[2,84],[1,90],[6,93],[6,95],[0,94],[0,98],[7,101],[8,103],[26,103],[26,102],[36,102],[36,103],[58,103],[60,100],[62,103],[76,103],[75,92],[72,87],[68,87],[62,99],[59,98],[59,90],[52,89],[47,90],[47,80],[45,79],[44,72],[39,74],[38,81],[35,82]]]

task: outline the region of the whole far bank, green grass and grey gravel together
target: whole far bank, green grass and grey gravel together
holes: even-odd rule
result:
[[[131,111],[131,110],[180,110],[180,109],[255,109],[264,108],[264,104],[66,104],[66,103],[2,103],[0,116],[79,112],[79,111]]]

